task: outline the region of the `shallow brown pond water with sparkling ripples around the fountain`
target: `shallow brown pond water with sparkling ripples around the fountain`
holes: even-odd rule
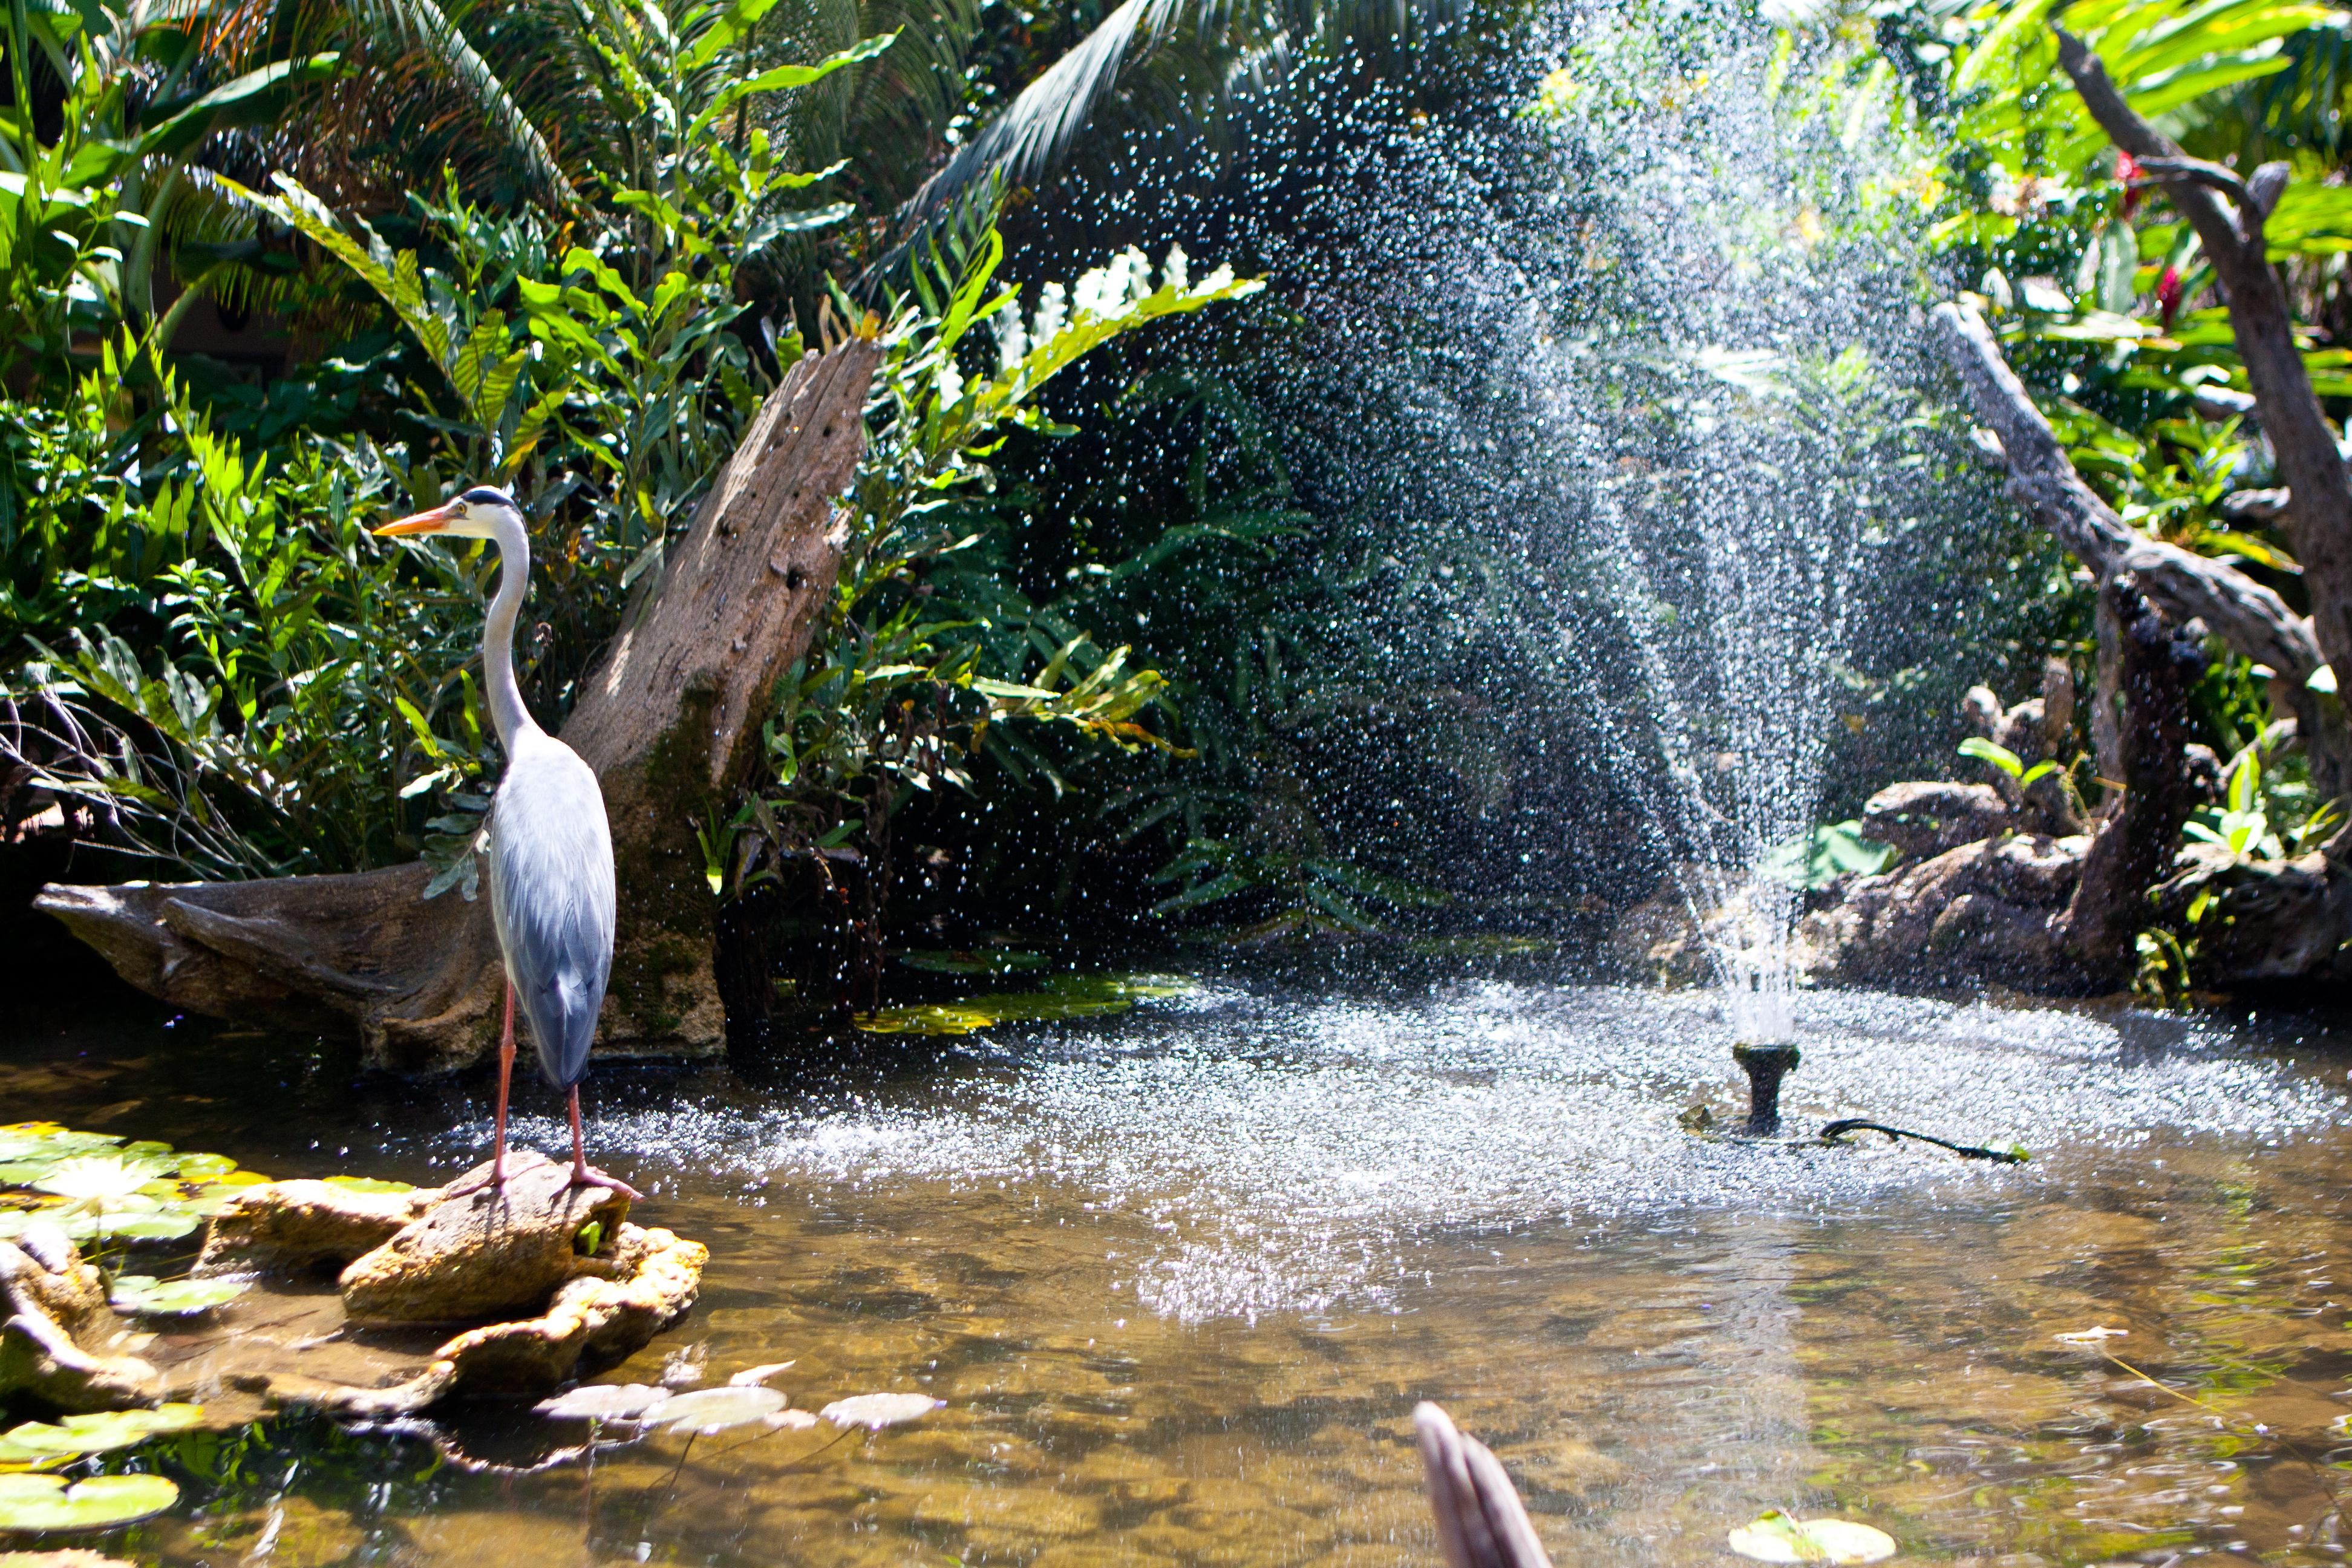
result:
[[[7,1119],[278,1175],[440,1180],[487,1147],[482,1081],[355,1084],[332,1053],[193,1023],[0,1044]],[[691,1319],[604,1378],[797,1361],[779,1387],[802,1408],[946,1408],[529,1476],[282,1422],[174,1472],[193,1507],[127,1547],[1437,1563],[1409,1436],[1437,1399],[1562,1566],[1722,1563],[1766,1507],[1863,1519],[1912,1559],[2343,1561],[2347,1041],[1825,994],[1799,1044],[1797,1126],[1875,1114],[2032,1164],[1698,1140],[1686,1105],[1738,1105],[1715,1009],[1599,987],[1207,980],[821,1093],[607,1067],[593,1154],[713,1260]],[[543,1091],[524,1107],[520,1138],[557,1147]],[[2091,1326],[2126,1331],[2112,1359],[2056,1338]],[[447,1436],[508,1462],[557,1441],[489,1406]]]

